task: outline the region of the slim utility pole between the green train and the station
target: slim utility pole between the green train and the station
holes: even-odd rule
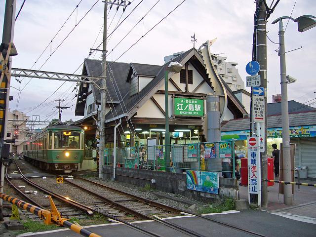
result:
[[[101,79],[101,111],[100,111],[100,149],[99,149],[99,178],[102,178],[105,149],[105,106],[106,106],[106,78],[107,78],[107,18],[108,1],[104,1],[103,48],[102,48],[102,79]],[[116,165],[116,164],[113,164]]]

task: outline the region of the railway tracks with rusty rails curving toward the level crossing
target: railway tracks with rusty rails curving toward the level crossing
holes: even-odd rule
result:
[[[17,164],[16,164],[17,165]],[[14,167],[12,167],[14,169]],[[17,169],[21,172],[20,168],[17,166]],[[27,170],[27,167],[25,168]],[[169,228],[175,229],[179,232],[182,232],[188,236],[193,237],[204,237],[203,235],[196,233],[194,231],[188,230],[182,226],[173,224],[168,222],[167,220],[163,220],[164,217],[171,217],[181,214],[190,214],[194,215],[197,218],[203,218],[205,220],[208,220],[210,222],[216,223],[218,225],[222,225],[231,229],[234,229],[238,232],[243,232],[251,236],[258,236],[258,237],[265,237],[264,235],[248,231],[243,228],[239,228],[237,226],[230,225],[228,223],[224,223],[221,221],[213,220],[210,217],[205,217],[201,215],[196,215],[194,213],[188,213],[186,210],[181,210],[175,207],[171,207],[168,205],[164,205],[161,203],[158,203],[156,201],[138,197],[132,194],[125,193],[123,191],[120,191],[118,189],[106,186],[104,184],[91,181],[84,178],[76,178],[74,180],[66,180],[64,185],[70,185],[70,187],[75,187],[77,190],[76,192],[79,192],[78,190],[85,192],[86,195],[91,195],[94,197],[95,200],[92,205],[83,205],[82,203],[79,203],[75,200],[72,200],[70,198],[64,197],[60,194],[54,193],[52,191],[49,191],[49,189],[46,187],[41,187],[36,182],[31,181],[30,179],[26,178],[24,174],[21,175],[23,178],[20,180],[13,180],[12,182],[15,182],[15,186],[26,186],[30,189],[31,187],[36,187],[42,192],[42,195],[49,194],[52,197],[56,198],[56,205],[58,205],[58,210],[63,212],[63,215],[65,216],[65,213],[69,212],[71,213],[74,210],[81,209],[83,210],[81,213],[85,212],[93,212],[93,213],[99,213],[103,216],[106,216],[107,218],[110,218],[110,221],[115,221],[122,223],[134,230],[137,230],[139,232],[142,232],[148,236],[154,236],[154,237],[162,237],[156,233],[153,233],[152,231],[148,231],[146,229],[143,229],[137,225],[134,225],[130,223],[131,220],[153,220],[161,223],[162,225],[168,226]],[[48,178],[49,179],[49,178]],[[48,180],[47,179],[47,180]],[[21,181],[22,180],[22,181]],[[25,185],[22,184],[22,182]],[[29,188],[30,187],[30,188]],[[33,188],[34,189],[34,188]],[[68,187],[69,189],[69,187]],[[39,191],[38,191],[39,192]],[[39,193],[38,193],[39,195]],[[36,195],[35,195],[36,196]],[[25,197],[25,196],[22,196]],[[26,196],[27,197],[27,196]],[[37,196],[39,197],[39,196]],[[32,203],[35,205],[39,205],[40,203],[35,203],[37,197],[28,197],[32,200]],[[65,207],[65,203],[67,205],[71,205],[70,209],[68,207]],[[42,206],[45,207],[47,203],[43,203]],[[39,205],[40,206],[40,205]],[[76,209],[77,208],[77,209]],[[73,213],[74,214],[74,213]],[[79,213],[75,213],[79,214]],[[74,215],[74,216],[75,216]],[[155,218],[154,216],[155,215]],[[79,215],[80,216],[80,215]],[[78,217],[76,217],[78,218]],[[80,219],[80,217],[78,218]]]

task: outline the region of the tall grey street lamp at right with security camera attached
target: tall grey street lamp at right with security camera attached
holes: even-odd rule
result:
[[[284,30],[283,19],[291,19],[297,22],[298,31],[304,32],[316,26],[316,17],[312,15],[300,16],[296,19],[289,16],[282,16],[277,18],[272,24],[279,23],[278,37],[279,37],[279,56],[280,56],[280,78],[281,78],[281,114],[282,114],[282,157],[283,157],[283,180],[291,182],[291,151],[290,151],[290,132],[288,121],[288,102],[287,102],[287,79],[285,66],[285,46],[284,46]],[[292,186],[284,185],[284,204],[293,205]]]

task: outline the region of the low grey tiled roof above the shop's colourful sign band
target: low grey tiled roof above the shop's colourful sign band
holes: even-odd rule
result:
[[[289,114],[289,126],[316,125],[316,111]],[[268,116],[268,128],[282,127],[282,116]],[[221,132],[249,130],[250,118],[231,119],[221,128]]]

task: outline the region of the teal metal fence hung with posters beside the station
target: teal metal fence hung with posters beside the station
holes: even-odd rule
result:
[[[166,163],[166,150],[170,151],[170,163]],[[105,149],[104,156],[105,164],[113,166],[114,149]],[[116,163],[119,167],[175,173],[216,171],[233,178],[236,170],[234,141],[117,148]]]

